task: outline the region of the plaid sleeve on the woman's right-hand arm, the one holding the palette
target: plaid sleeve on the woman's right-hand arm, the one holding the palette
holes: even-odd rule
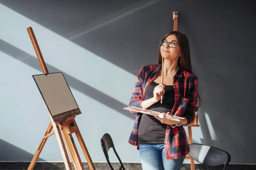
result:
[[[196,106],[198,102],[198,78],[195,79],[195,82],[192,83],[189,94],[189,102],[184,113],[184,117],[187,119],[187,124],[191,124],[195,120],[195,112],[198,111]]]

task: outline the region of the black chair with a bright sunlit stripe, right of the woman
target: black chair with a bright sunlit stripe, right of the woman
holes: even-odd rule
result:
[[[199,163],[212,167],[224,164],[224,170],[227,170],[231,157],[226,151],[195,143],[189,144],[189,147],[190,152],[188,155]]]

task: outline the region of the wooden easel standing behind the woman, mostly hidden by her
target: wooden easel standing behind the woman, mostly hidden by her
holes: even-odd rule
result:
[[[175,11],[173,12],[173,31],[177,31],[178,30],[178,12]],[[191,127],[200,127],[200,125],[198,125],[198,116],[199,114],[195,114],[195,121],[189,125],[184,125],[188,127],[188,131],[189,131],[189,144],[193,143],[193,139],[192,139],[192,130]],[[186,156],[185,159],[190,159],[191,161],[191,170],[195,170],[195,161],[193,158],[191,158],[190,156]]]

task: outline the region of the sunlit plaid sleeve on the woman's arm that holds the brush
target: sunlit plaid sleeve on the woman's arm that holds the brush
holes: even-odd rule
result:
[[[144,66],[143,66],[144,67]],[[137,75],[137,82],[135,83],[134,91],[131,94],[129,101],[129,106],[141,108],[142,101],[142,82],[143,82],[143,67],[140,68],[140,71]],[[131,113],[137,113],[130,111]]]

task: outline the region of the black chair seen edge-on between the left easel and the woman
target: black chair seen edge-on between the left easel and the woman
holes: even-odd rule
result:
[[[107,161],[108,161],[108,165],[109,165],[109,167],[111,168],[111,170],[114,170],[113,167],[112,167],[112,165],[111,165],[111,163],[110,163],[110,161],[109,161],[109,157],[108,157],[108,150],[109,150],[111,147],[113,148],[113,151],[114,151],[114,153],[116,154],[116,157],[117,157],[117,159],[119,160],[119,162],[120,162],[120,164],[121,164],[121,166],[119,167],[119,170],[125,170],[125,167],[124,167],[124,165],[122,164],[121,159],[119,158],[118,154],[116,153],[116,149],[115,149],[115,146],[114,146],[114,144],[113,144],[113,140],[112,140],[110,134],[105,133],[105,134],[102,136],[102,138],[100,139],[100,144],[102,145],[102,150],[103,150],[103,152],[104,152],[104,155],[105,155],[105,157],[106,157],[106,159],[107,159]]]

